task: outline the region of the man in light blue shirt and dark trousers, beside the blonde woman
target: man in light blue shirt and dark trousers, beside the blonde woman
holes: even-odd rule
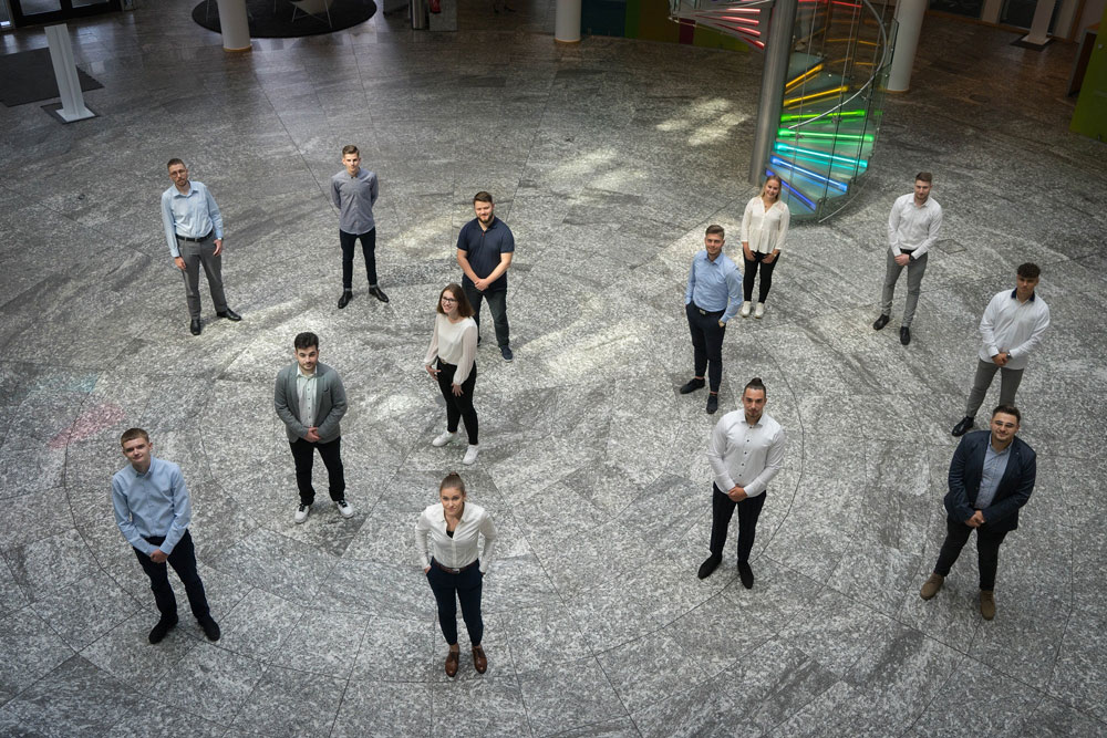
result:
[[[723,380],[723,335],[726,323],[742,305],[742,272],[723,253],[722,226],[707,226],[704,250],[695,254],[684,290],[684,312],[692,331],[695,376],[681,387],[686,395],[711,381],[707,413],[718,409],[718,385]]]

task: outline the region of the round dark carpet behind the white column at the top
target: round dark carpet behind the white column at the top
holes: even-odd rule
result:
[[[210,7],[209,7],[210,3]],[[292,39],[300,35],[330,33],[364,23],[376,12],[373,0],[334,0],[331,6],[331,24],[327,24],[327,13],[306,15],[296,11],[289,0],[277,0],[277,12],[273,12],[273,0],[246,0],[249,12],[250,38],[252,39]],[[219,32],[219,10],[216,0],[204,0],[193,8],[193,20],[208,29]]]

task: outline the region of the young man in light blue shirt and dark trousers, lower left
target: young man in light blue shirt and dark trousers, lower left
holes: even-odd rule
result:
[[[177,624],[177,599],[169,586],[166,563],[184,583],[188,605],[204,635],[218,641],[219,625],[211,617],[204,583],[196,572],[196,550],[188,533],[193,510],[180,467],[151,456],[154,446],[142,428],[124,432],[120,444],[131,464],[112,477],[112,507],[115,524],[149,578],[162,614],[149,632],[149,642],[159,643]]]

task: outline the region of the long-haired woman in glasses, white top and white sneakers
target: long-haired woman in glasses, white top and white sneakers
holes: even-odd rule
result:
[[[438,380],[438,389],[446,399],[446,432],[431,441],[445,446],[457,437],[457,422],[465,419],[469,447],[462,464],[477,460],[477,412],[473,409],[473,388],[477,383],[477,324],[473,305],[461,284],[449,283],[438,294],[438,314],[434,316],[431,346],[423,361],[426,373]],[[437,366],[435,366],[437,360]]]

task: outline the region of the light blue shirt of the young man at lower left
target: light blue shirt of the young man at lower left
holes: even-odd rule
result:
[[[193,506],[180,467],[151,457],[149,469],[138,474],[132,465],[112,477],[112,507],[123,538],[146,555],[161,549],[170,553],[193,519]],[[143,537],[164,536],[153,545]]]

